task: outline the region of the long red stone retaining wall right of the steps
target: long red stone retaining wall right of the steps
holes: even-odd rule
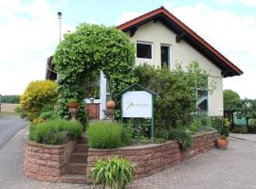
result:
[[[176,141],[165,144],[150,144],[144,146],[125,146],[116,149],[89,148],[87,159],[87,174],[98,160],[109,157],[126,157],[136,163],[136,179],[148,177],[175,163],[182,162],[193,156],[210,150],[216,141],[217,132],[211,131],[193,137],[192,147],[183,152]]]

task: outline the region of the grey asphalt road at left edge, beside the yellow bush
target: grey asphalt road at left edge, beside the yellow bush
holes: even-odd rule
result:
[[[0,116],[0,148],[2,148],[17,131],[24,129],[27,121],[13,115]]]

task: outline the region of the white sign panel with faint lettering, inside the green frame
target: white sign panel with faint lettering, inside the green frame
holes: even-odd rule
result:
[[[146,91],[128,91],[122,95],[122,116],[152,118],[152,94]]]

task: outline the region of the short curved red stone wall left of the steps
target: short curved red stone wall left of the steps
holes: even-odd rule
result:
[[[37,180],[61,181],[65,164],[69,162],[76,146],[70,141],[62,146],[49,146],[27,141],[25,146],[24,173]]]

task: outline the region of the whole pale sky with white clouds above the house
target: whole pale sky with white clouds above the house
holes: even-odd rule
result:
[[[45,79],[62,33],[81,23],[117,26],[164,6],[244,71],[224,89],[256,98],[256,0],[0,0],[0,94],[23,94]]]

